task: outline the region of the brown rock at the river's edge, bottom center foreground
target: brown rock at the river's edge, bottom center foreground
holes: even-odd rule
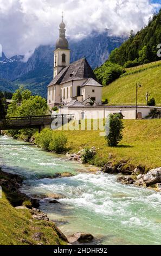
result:
[[[74,233],[72,236],[69,236],[68,237],[68,240],[70,243],[74,243],[76,241],[82,243],[87,243],[87,242],[90,242],[94,239],[93,235],[91,234],[86,234],[86,233]]]

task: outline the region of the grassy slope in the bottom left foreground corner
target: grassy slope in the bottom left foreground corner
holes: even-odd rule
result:
[[[12,207],[5,194],[0,199],[0,215],[0,245],[65,244],[57,235],[54,223],[33,220],[29,210]],[[33,239],[36,232],[43,234],[41,241]]]

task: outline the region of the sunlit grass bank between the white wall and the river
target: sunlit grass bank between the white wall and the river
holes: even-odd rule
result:
[[[124,125],[124,138],[117,148],[107,147],[105,138],[99,136],[99,131],[63,133],[68,137],[68,147],[72,153],[85,147],[96,147],[94,164],[102,166],[108,161],[124,159],[134,166],[142,164],[146,168],[161,167],[161,120],[124,120]]]

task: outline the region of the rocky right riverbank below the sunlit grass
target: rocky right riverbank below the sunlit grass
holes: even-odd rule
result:
[[[96,154],[95,147],[92,147],[90,150],[93,152],[93,155]],[[84,149],[74,154],[67,153],[66,156],[68,160],[82,163],[83,152]],[[161,167],[148,171],[145,166],[139,165],[134,167],[132,164],[129,164],[128,161],[121,161],[118,163],[107,162],[105,166],[98,169],[98,171],[108,174],[119,174],[117,181],[121,184],[143,186],[161,192]]]

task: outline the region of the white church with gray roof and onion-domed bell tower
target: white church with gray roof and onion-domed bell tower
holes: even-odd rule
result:
[[[70,50],[66,39],[66,25],[60,23],[60,36],[54,51],[53,80],[48,85],[48,106],[101,105],[102,85],[97,81],[87,59],[70,64]]]

